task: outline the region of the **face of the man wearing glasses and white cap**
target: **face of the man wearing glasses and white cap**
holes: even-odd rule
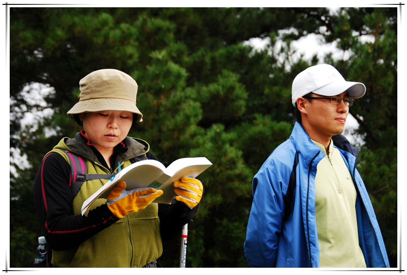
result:
[[[345,91],[337,96],[344,98],[348,96],[348,93]],[[326,96],[313,94],[312,97]],[[307,131],[311,138],[317,136],[330,139],[333,135],[341,134],[344,131],[349,106],[346,106],[343,100],[339,105],[331,104],[328,99],[305,100],[304,104],[306,106],[306,116],[305,121],[303,116],[303,125],[304,123],[307,124]]]

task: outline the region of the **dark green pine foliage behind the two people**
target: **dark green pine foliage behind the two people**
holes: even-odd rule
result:
[[[10,8],[10,267],[32,267],[40,236],[32,188],[43,156],[81,128],[66,115],[78,82],[115,68],[139,85],[141,138],[165,165],[207,157],[204,196],[188,226],[187,267],[247,267],[243,254],[251,180],[295,121],[291,84],[317,63],[366,84],[351,114],[360,124],[358,169],[371,196],[391,266],[397,266],[397,9],[341,8]],[[279,31],[284,30],[284,34]],[[287,31],[288,30],[288,31]],[[350,57],[293,58],[309,34]],[[282,35],[282,36],[279,36]],[[370,37],[367,42],[361,41]],[[250,38],[268,41],[262,50]],[[282,47],[278,44],[282,39]],[[53,88],[40,105],[32,83]],[[31,86],[30,86],[31,87]],[[33,92],[30,90],[31,93]],[[53,114],[21,127],[25,113]],[[34,126],[34,127],[31,127]],[[164,243],[161,264],[179,266],[180,240]]]

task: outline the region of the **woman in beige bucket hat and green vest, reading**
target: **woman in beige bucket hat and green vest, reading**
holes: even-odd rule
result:
[[[161,190],[126,191],[121,181],[107,200],[96,200],[89,214],[82,216],[84,200],[120,167],[157,158],[148,143],[127,136],[133,122],[142,121],[136,81],[119,70],[101,69],[80,80],[79,86],[79,101],[68,114],[83,130],[72,139],[63,138],[47,153],[34,184],[35,208],[52,248],[52,265],[159,267],[161,240],[180,235],[201,197],[194,197],[193,203],[175,188],[179,195],[171,205],[151,203]],[[70,164],[70,159],[77,164]],[[71,188],[78,181],[72,180],[72,171],[82,166],[87,167],[87,178],[79,188]],[[101,174],[107,179],[95,177]],[[203,189],[197,179],[183,181]]]

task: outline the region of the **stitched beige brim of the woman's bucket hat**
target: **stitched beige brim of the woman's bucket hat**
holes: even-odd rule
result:
[[[131,100],[120,98],[92,98],[87,100],[79,100],[67,114],[100,112],[100,111],[125,111],[137,113],[139,121],[142,121],[143,114],[137,108],[136,104]]]

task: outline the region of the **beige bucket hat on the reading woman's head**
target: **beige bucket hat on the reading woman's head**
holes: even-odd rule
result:
[[[142,121],[143,115],[136,106],[137,88],[137,82],[122,71],[94,71],[79,81],[79,102],[68,114],[127,111],[137,113]]]

